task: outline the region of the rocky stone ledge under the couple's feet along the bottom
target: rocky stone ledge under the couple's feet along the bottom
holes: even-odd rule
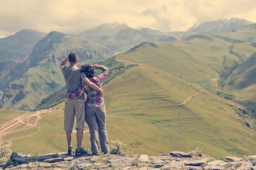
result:
[[[193,156],[185,152],[170,152],[160,156],[67,155],[67,152],[30,157],[13,152],[4,170],[256,170],[256,155],[221,157]],[[0,168],[0,170],[3,170]]]

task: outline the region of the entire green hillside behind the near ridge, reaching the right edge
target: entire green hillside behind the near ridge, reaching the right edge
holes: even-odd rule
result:
[[[255,89],[253,68],[256,38],[254,37],[256,37],[255,29],[218,35],[194,35],[185,40],[169,43],[142,43],[126,53],[117,55],[117,60],[154,66],[213,94],[239,101],[249,108],[256,102],[254,98],[247,97],[253,96],[254,91],[250,89]],[[226,81],[235,75],[243,79],[239,79],[238,86],[231,84],[229,88],[229,82]],[[249,77],[249,81],[245,77]],[[240,93],[245,90],[242,84],[249,86],[246,94]],[[226,94],[229,96],[236,94],[238,99],[225,97]],[[241,97],[243,99],[240,99]]]

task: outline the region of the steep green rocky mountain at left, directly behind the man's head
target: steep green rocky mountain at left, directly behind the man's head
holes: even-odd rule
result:
[[[79,55],[79,64],[99,63],[113,52],[95,42],[53,31],[40,40],[24,62],[0,81],[4,109],[34,110],[41,100],[65,86],[59,67],[69,53]]]

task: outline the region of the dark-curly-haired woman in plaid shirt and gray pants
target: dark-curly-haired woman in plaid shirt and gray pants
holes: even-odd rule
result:
[[[94,77],[94,70],[100,69],[102,73],[98,77]],[[84,64],[81,66],[81,71],[90,79],[91,82],[102,87],[103,80],[108,75],[108,68],[95,64],[93,67],[89,64]],[[88,87],[85,83],[82,83],[76,93],[66,93],[68,98],[76,99],[83,95],[85,91],[86,107],[85,107],[85,121],[90,129],[90,140],[91,140],[91,150],[93,155],[99,155],[99,144],[98,144],[98,134],[99,141],[101,145],[101,151],[104,154],[109,153],[108,146],[108,134],[106,130],[106,109],[104,105],[104,98],[100,93],[93,88]]]

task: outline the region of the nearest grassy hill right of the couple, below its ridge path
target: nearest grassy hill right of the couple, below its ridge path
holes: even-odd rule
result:
[[[173,91],[169,93],[175,94],[175,96],[170,97],[173,101],[162,101],[161,99],[165,99],[165,96],[168,95],[168,91],[157,88],[157,84],[153,86],[147,82],[144,85],[148,84],[148,86],[137,86],[137,88],[141,89],[141,93],[132,93],[131,84],[136,86],[140,81],[145,81],[148,78],[141,76],[139,73],[142,74],[144,72],[137,71],[138,69],[137,67],[131,68],[128,72],[132,72],[131,70],[134,70],[134,72],[130,74],[127,72],[128,75],[124,73],[124,75],[117,77],[104,87],[106,89],[105,95],[108,96],[105,99],[110,101],[106,104],[107,112],[111,116],[109,126],[110,129],[118,129],[111,130],[111,132],[114,131],[112,133],[115,135],[118,133],[118,139],[128,144],[131,150],[148,155],[159,155],[161,154],[159,150],[164,153],[174,150],[187,152],[195,148],[200,148],[203,153],[212,156],[243,155],[245,153],[248,155],[255,152],[255,150],[250,149],[255,143],[253,137],[255,132],[248,129],[245,126],[245,120],[237,114],[239,111],[237,107],[241,106],[209,93],[201,93],[189,100],[185,106],[177,107],[175,103],[179,104],[180,101],[175,101],[175,98],[182,99],[182,93],[177,93],[180,91],[175,93],[175,87],[172,87]],[[159,77],[161,77],[160,73]],[[135,76],[133,79],[136,79],[136,81],[128,82],[126,81],[126,76],[131,78]],[[168,79],[167,76],[165,77]],[[122,85],[120,88],[118,86],[112,88],[112,90],[108,88],[117,82]],[[165,84],[168,84],[168,82],[165,82]],[[152,91],[155,91],[158,96],[162,96],[162,98],[159,97],[161,102],[158,101],[157,104],[150,103],[148,98],[140,103],[141,95],[149,95],[144,93],[144,91],[149,92],[148,88],[153,88]],[[180,88],[186,89],[184,87]],[[187,88],[188,90],[183,92],[186,93],[186,97],[196,92],[194,89]],[[192,93],[189,89],[192,90]],[[127,91],[131,93],[127,95]],[[119,97],[116,96],[117,93]],[[156,102],[157,99],[154,101]],[[232,106],[230,106],[231,104]],[[115,116],[119,121],[114,119]],[[250,123],[253,124],[252,121]],[[114,127],[116,128],[112,128],[111,124],[115,124]],[[236,128],[234,129],[234,127]],[[112,133],[109,134],[111,138]],[[229,135],[233,136],[237,133],[239,135],[242,134],[238,137],[239,139],[243,137],[248,139],[245,138],[243,141],[238,142],[230,141],[227,138]],[[252,136],[247,135],[247,133]],[[252,143],[247,144],[247,141],[252,141]],[[244,146],[240,146],[241,142]],[[140,145],[135,145],[137,143]],[[167,148],[168,151],[166,151]],[[241,148],[244,152],[227,151],[232,148]]]

